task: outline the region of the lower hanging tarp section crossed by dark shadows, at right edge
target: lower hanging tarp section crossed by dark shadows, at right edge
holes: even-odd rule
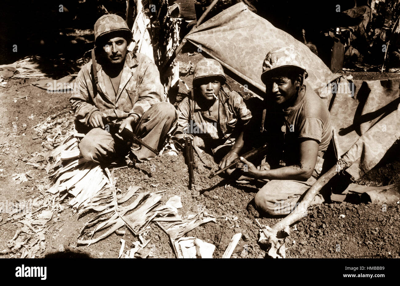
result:
[[[372,169],[400,137],[400,78],[348,82],[340,78],[330,100],[342,161],[358,179]],[[331,95],[332,96],[332,95]],[[348,164],[350,165],[350,164]]]

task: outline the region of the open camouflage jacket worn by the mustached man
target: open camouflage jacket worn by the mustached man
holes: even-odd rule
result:
[[[96,69],[96,93],[93,91],[94,77],[90,61],[79,71],[77,92],[70,97],[72,110],[81,123],[88,125],[90,115],[97,110],[112,119],[121,120],[131,114],[140,118],[154,103],[165,101],[157,66],[144,54],[126,54],[118,93],[115,95],[106,92],[108,75],[102,66],[96,63]]]

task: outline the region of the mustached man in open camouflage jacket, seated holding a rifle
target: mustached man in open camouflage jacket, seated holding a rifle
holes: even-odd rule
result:
[[[128,52],[132,32],[120,16],[100,17],[94,24],[94,37],[92,61],[80,70],[78,93],[70,97],[77,129],[88,131],[79,149],[83,157],[96,163],[114,161],[129,149],[139,161],[151,159],[156,155],[152,151],[129,147],[108,132],[102,117],[120,121],[119,132],[124,128],[134,131],[144,143],[160,149],[178,112],[165,102],[157,66],[144,54]]]

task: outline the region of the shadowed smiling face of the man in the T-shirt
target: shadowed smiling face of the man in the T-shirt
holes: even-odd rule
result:
[[[286,76],[271,77],[265,85],[266,99],[278,104],[290,101],[296,95],[299,85],[297,80],[292,81]]]

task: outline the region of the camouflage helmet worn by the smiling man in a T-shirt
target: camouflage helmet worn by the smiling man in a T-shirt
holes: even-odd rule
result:
[[[265,83],[268,77],[271,77],[276,71],[282,70],[282,68],[298,70],[304,78],[308,76],[304,64],[292,47],[275,48],[268,52],[262,64],[262,82]]]

